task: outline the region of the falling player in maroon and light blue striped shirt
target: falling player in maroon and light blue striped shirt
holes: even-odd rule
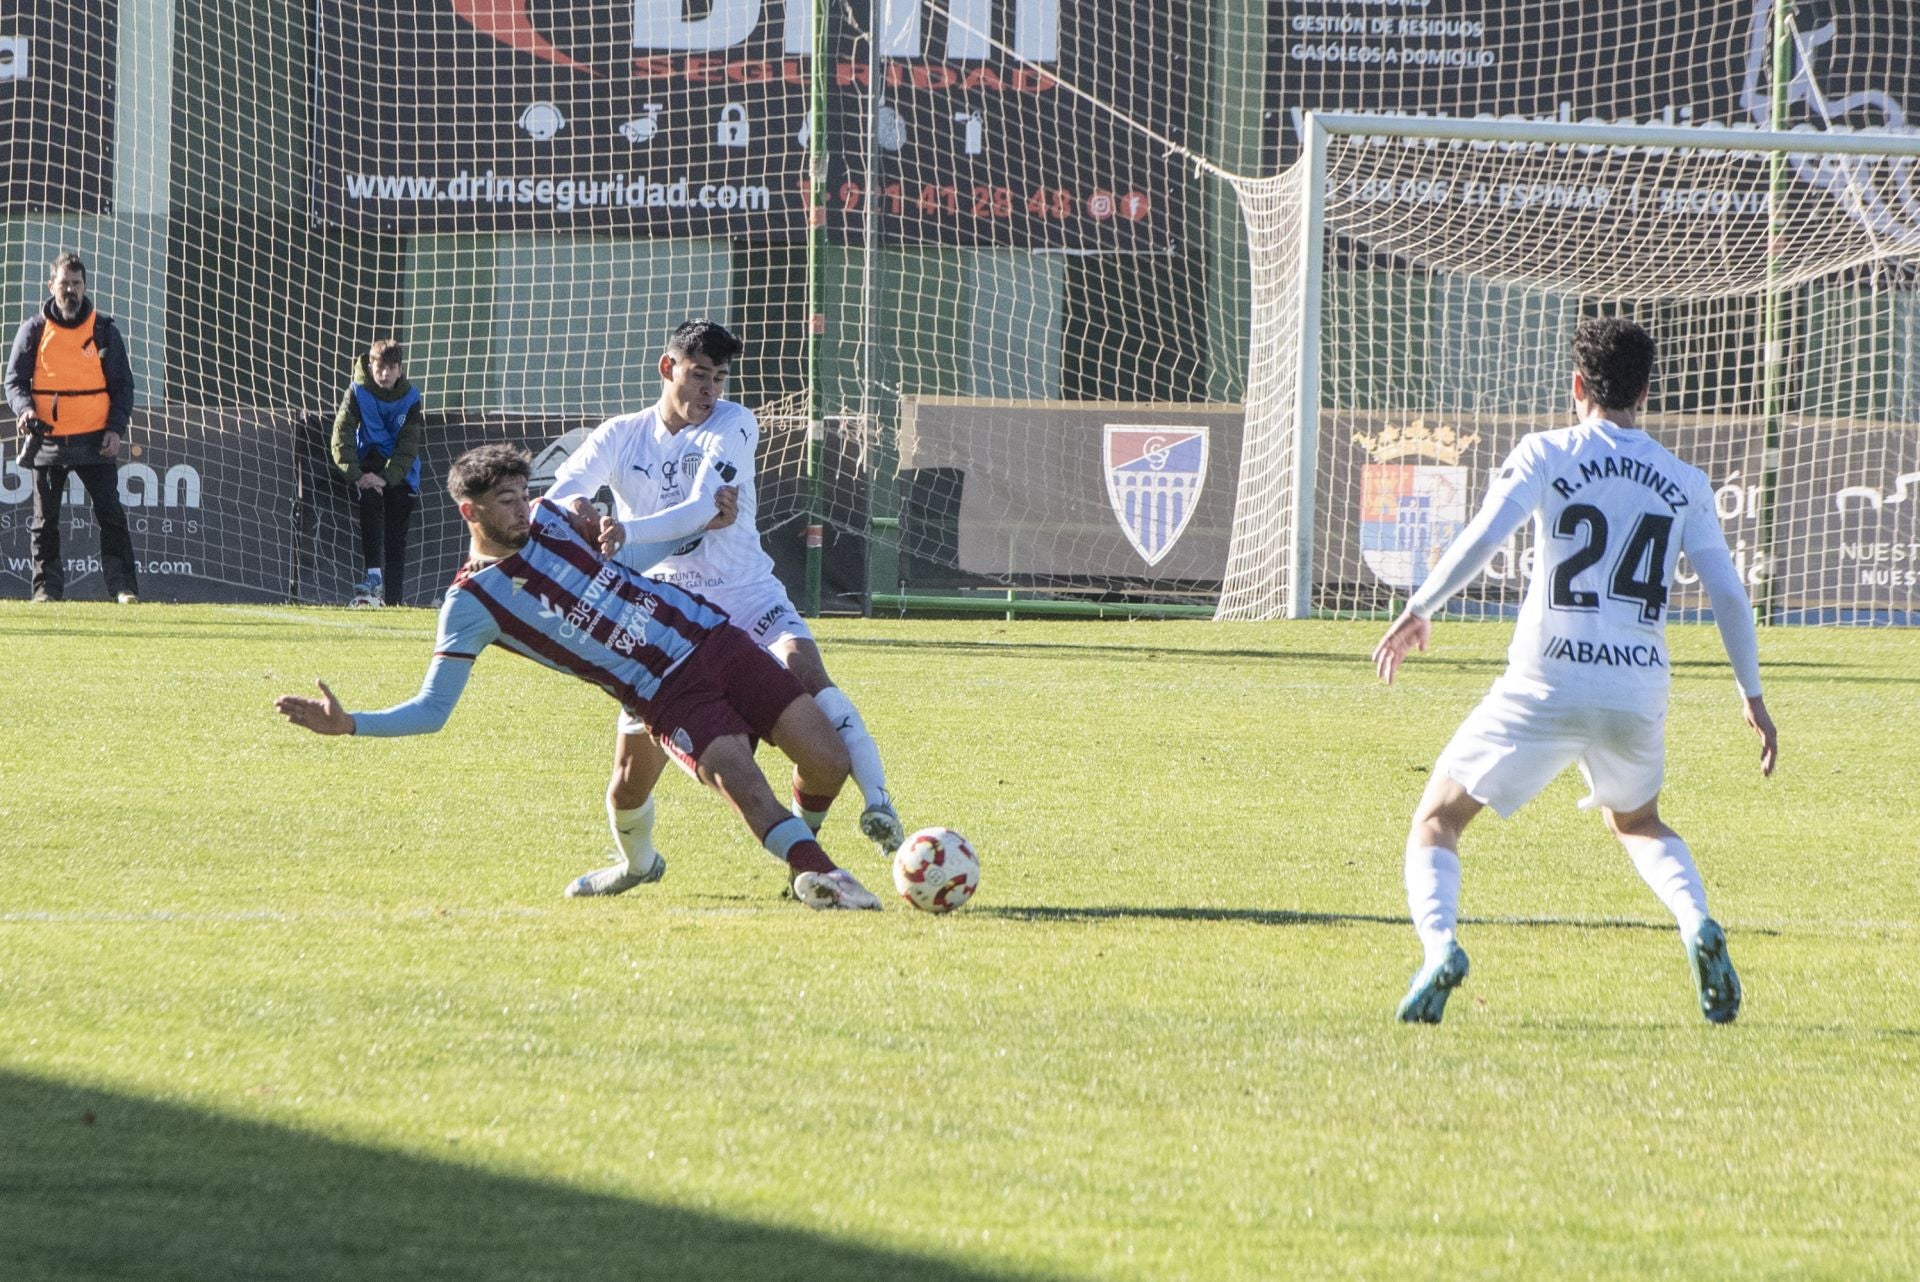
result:
[[[797,787],[831,800],[847,781],[847,748],[820,706],[712,603],[605,558],[589,541],[601,535],[599,516],[530,503],[530,470],[513,445],[482,445],[453,463],[447,487],[472,551],[440,606],[419,695],[382,712],[348,712],[321,681],[321,699],[275,700],[280,716],[321,735],[428,735],[447,724],[480,651],[497,645],[599,685],[651,725],[785,864],[803,904],[877,910],[753,760],[755,741],[766,739],[793,760]],[[639,877],[659,881],[664,869],[657,858]]]

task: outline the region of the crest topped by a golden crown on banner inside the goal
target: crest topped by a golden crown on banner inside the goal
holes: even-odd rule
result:
[[[1415,418],[1379,436],[1356,434],[1367,451],[1359,470],[1359,555],[1390,587],[1411,591],[1467,524],[1467,468],[1461,457],[1478,434]]]

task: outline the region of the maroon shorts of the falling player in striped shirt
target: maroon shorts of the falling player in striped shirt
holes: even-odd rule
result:
[[[804,693],[799,677],[753,637],[720,624],[660,681],[649,700],[647,727],[674,760],[693,770],[714,739],[770,737],[780,714]]]

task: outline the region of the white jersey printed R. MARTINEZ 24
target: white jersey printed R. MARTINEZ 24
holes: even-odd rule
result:
[[[1707,474],[1638,428],[1588,418],[1523,438],[1494,474],[1498,499],[1532,512],[1534,568],[1496,689],[1661,716],[1680,553],[1730,560]]]

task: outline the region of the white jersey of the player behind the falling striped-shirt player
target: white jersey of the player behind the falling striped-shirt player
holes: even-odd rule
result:
[[[637,520],[685,503],[695,491],[739,486],[739,516],[722,530],[705,530],[670,557],[643,568],[689,591],[720,591],[774,578],[774,558],[760,547],[755,524],[753,453],[760,420],[733,401],[720,401],[707,422],[668,432],[659,407],[618,415],[593,428],[586,443],[559,466],[553,499],[612,491],[614,516]]]

